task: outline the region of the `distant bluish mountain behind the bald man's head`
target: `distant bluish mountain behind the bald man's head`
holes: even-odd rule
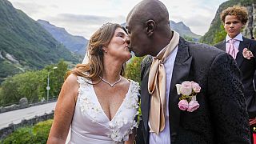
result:
[[[122,23],[121,26],[126,26],[126,22]],[[182,37],[193,38],[195,41],[198,41],[198,38],[201,37],[201,35],[194,34],[183,22],[176,23],[174,21],[170,21],[170,28],[178,32]]]

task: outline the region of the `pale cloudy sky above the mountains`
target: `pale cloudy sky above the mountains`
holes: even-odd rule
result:
[[[124,23],[130,10],[141,0],[9,0],[34,20],[42,19],[63,27],[70,34],[89,39],[106,22]],[[226,0],[160,0],[170,20],[184,22],[195,34],[210,28],[218,6]]]

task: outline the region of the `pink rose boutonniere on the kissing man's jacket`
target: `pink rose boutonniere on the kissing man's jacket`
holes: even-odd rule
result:
[[[178,102],[178,108],[180,110],[186,110],[193,112],[199,108],[197,101],[197,94],[200,92],[201,87],[197,82],[185,81],[182,84],[176,84],[177,94],[181,95]]]

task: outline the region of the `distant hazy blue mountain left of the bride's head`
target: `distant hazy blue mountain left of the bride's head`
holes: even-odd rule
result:
[[[61,42],[70,51],[77,54],[85,54],[88,40],[82,36],[69,34],[64,28],[54,26],[50,22],[39,19],[37,21],[45,28],[58,42]]]

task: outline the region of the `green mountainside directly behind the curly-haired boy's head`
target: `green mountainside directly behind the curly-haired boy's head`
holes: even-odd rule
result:
[[[215,14],[214,19],[210,23],[210,28],[202,38],[200,42],[214,45],[226,38],[226,31],[224,30],[220,14],[222,10],[225,10],[227,7],[239,5],[246,6],[248,10],[249,21],[244,26],[242,30],[243,36],[246,38],[251,38],[253,35],[256,36],[256,1],[255,0],[229,0],[223,2]]]

